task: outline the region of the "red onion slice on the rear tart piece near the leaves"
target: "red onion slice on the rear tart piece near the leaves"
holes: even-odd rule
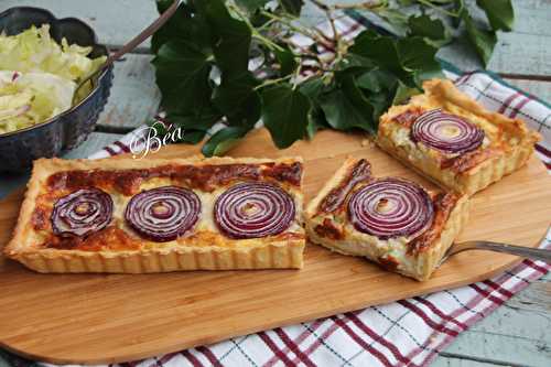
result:
[[[415,119],[411,138],[445,153],[466,153],[482,145],[484,130],[462,117],[433,109]]]

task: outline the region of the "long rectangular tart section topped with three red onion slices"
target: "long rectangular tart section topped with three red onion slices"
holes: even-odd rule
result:
[[[302,268],[300,158],[35,161],[4,253],[39,272]]]

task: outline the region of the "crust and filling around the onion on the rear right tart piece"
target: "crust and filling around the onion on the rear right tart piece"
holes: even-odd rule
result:
[[[377,144],[437,184],[472,195],[521,168],[540,140],[522,120],[486,110],[450,80],[428,80],[423,88],[423,95],[412,97],[408,105],[393,106],[381,116]],[[485,132],[482,147],[458,156],[446,156],[415,143],[410,134],[411,125],[421,114],[437,108],[482,128]]]

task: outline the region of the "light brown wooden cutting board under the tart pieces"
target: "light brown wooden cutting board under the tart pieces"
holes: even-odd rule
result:
[[[151,156],[186,156],[197,147],[170,145]],[[367,158],[375,175],[428,182],[363,137],[323,131],[278,151],[266,130],[235,156],[303,155],[306,201],[347,155]],[[458,240],[536,246],[551,218],[551,177],[537,158],[473,198]],[[14,226],[22,192],[0,202],[0,247]],[[519,260],[486,251],[450,259],[420,283],[360,259],[310,245],[302,270],[162,274],[39,274],[0,257],[0,345],[52,361],[126,361],[210,344],[276,326],[333,315],[489,278]]]

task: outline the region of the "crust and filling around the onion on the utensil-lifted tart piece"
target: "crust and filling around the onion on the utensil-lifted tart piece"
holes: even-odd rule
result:
[[[306,207],[309,239],[343,255],[366,257],[388,270],[420,281],[429,279],[468,219],[468,197],[453,192],[426,190],[434,208],[431,226],[414,238],[382,240],[356,230],[346,211],[352,193],[376,180],[369,171],[366,160],[346,160]],[[357,179],[355,184],[348,185],[354,177]],[[343,188],[344,195],[335,195],[338,192],[342,194]],[[338,198],[335,199],[336,196]],[[335,202],[338,203],[333,204]]]

